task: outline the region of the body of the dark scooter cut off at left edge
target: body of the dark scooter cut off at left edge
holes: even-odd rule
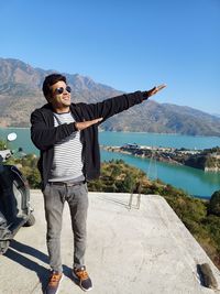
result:
[[[22,226],[34,225],[32,211],[26,179],[15,166],[0,163],[0,254]]]

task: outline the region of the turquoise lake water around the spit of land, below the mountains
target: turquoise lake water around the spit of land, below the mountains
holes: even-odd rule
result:
[[[22,146],[25,153],[38,154],[30,140],[29,129],[0,129],[0,138],[6,139],[7,134],[15,131],[16,141],[11,148]],[[177,134],[156,133],[127,133],[127,132],[100,132],[99,142],[102,145],[122,145],[125,143],[138,143],[142,145],[207,149],[220,145],[218,137],[190,137]],[[163,182],[183,188],[191,195],[210,197],[211,194],[220,189],[220,173],[205,173],[204,171],[170,165],[161,162],[152,162],[147,159],[134,157],[132,155],[101,151],[101,160],[122,159],[127,163],[143,170],[151,178],[158,177]]]

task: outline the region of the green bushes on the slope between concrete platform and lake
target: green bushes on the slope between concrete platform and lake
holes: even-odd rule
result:
[[[8,164],[16,164],[28,178],[31,188],[41,187],[36,168],[37,157],[33,154],[22,159],[9,159]],[[103,162],[101,176],[88,184],[89,190],[114,193],[141,193],[163,196],[191,235],[220,269],[220,190],[210,202],[193,198],[184,190],[161,181],[150,181],[143,171],[130,166],[122,160]]]

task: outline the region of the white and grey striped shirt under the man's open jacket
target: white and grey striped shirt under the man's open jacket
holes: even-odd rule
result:
[[[54,112],[54,127],[74,121],[75,119],[70,112]],[[79,135],[79,131],[73,132],[69,137],[54,145],[54,159],[50,182],[84,179],[81,160],[82,144]]]

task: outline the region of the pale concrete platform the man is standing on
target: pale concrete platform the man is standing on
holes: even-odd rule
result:
[[[0,257],[0,294],[40,294],[48,277],[43,197],[32,190],[36,224],[22,228]],[[94,294],[219,293],[200,285],[197,263],[220,273],[161,196],[142,195],[129,209],[129,194],[89,193],[87,270]],[[64,210],[64,280],[59,294],[84,293],[70,279],[73,236]]]

